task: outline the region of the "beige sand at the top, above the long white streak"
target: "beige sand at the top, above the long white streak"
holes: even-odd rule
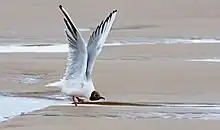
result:
[[[28,42],[66,42],[63,16],[58,8],[62,4],[78,28],[94,28],[113,9],[118,9],[108,40],[218,37],[219,3],[218,0],[2,0],[0,36]],[[87,38],[89,33],[83,35]]]

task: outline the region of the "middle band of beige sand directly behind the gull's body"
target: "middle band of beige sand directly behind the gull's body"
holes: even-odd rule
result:
[[[94,67],[96,88],[111,100],[219,102],[219,63],[187,59],[218,58],[219,44],[105,47]],[[45,94],[62,77],[67,53],[1,54],[1,92]],[[35,84],[17,83],[22,74],[42,75]],[[217,96],[217,97],[216,97]]]

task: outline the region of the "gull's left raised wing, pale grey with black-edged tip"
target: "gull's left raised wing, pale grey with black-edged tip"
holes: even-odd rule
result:
[[[65,34],[69,41],[69,52],[67,57],[67,67],[64,79],[74,79],[85,75],[87,66],[87,49],[84,39],[74,25],[67,11],[59,6],[64,14],[64,23],[66,24]]]

